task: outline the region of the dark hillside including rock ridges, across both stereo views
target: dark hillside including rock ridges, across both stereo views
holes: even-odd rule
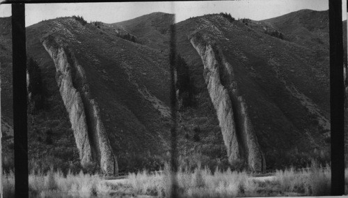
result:
[[[8,94],[1,107],[12,118],[10,75],[3,76],[11,73],[8,21],[0,20]],[[62,17],[26,28],[44,85],[42,108],[29,112],[31,168],[81,164],[117,174],[164,165],[172,23],[171,14],[151,13],[114,24]],[[327,11],[260,22],[204,15],[175,28],[180,166],[260,172],[330,159]]]

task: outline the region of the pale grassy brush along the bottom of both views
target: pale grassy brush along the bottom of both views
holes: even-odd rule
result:
[[[130,173],[127,178],[104,181],[99,176],[84,174],[63,175],[52,169],[47,174],[29,175],[31,197],[105,197],[108,195],[150,195],[168,197],[173,180],[168,166],[161,172]],[[180,197],[256,197],[256,196],[324,196],[330,195],[331,170],[312,166],[276,171],[266,177],[246,172],[221,171],[198,166],[193,172],[180,169],[175,176]],[[348,192],[348,169],[346,169]],[[3,178],[4,197],[14,195],[14,174]]]

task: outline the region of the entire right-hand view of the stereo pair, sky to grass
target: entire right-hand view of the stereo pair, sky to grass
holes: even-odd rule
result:
[[[175,4],[177,183],[189,196],[330,195],[329,2],[286,2]]]

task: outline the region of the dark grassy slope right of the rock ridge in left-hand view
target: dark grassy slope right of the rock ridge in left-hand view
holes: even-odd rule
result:
[[[27,28],[28,52],[35,59],[48,56],[40,43],[47,34],[65,43],[84,68],[120,172],[158,167],[170,126],[168,56],[119,38],[111,27],[100,29],[65,17]]]

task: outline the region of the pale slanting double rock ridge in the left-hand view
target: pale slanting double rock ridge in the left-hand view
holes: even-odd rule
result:
[[[117,160],[100,118],[100,109],[90,97],[84,69],[58,38],[45,36],[41,43],[56,66],[56,81],[72,123],[81,165],[97,162],[104,174],[118,174]]]

